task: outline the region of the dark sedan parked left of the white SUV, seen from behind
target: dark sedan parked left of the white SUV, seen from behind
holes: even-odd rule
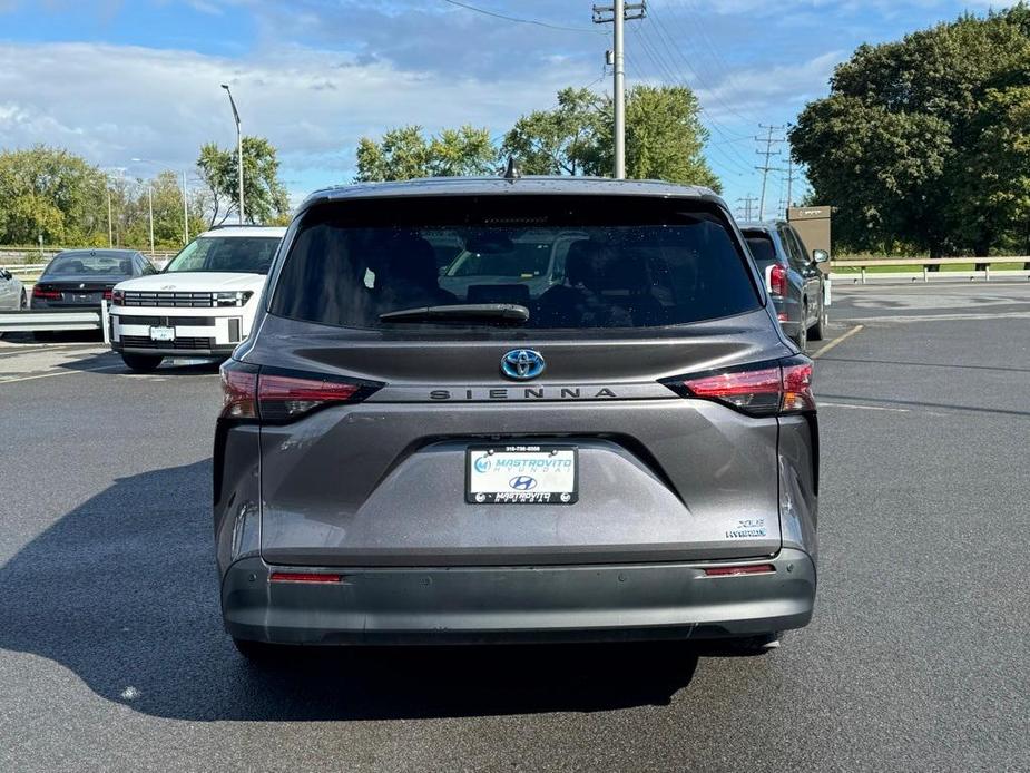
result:
[[[135,249],[66,249],[58,253],[32,287],[33,309],[84,309],[110,301],[119,282],[156,274]]]

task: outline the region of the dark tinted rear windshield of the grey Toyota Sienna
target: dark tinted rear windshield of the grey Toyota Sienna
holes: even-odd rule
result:
[[[516,304],[528,319],[449,319],[447,312],[382,319],[467,304]],[[313,207],[271,311],[352,327],[588,329],[676,325],[758,305],[745,258],[715,207],[612,196],[487,196]]]

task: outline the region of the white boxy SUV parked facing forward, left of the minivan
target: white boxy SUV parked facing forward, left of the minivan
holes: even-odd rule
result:
[[[285,228],[233,226],[200,234],[165,270],[115,285],[111,346],[147,373],[166,356],[227,358],[251,333]]]

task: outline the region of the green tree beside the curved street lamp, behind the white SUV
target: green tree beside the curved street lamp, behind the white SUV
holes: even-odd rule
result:
[[[243,138],[243,208],[247,223],[265,223],[290,211],[290,197],[278,178],[275,146],[264,137]],[[236,148],[214,143],[200,148],[197,169],[209,204],[209,225],[224,223],[238,212],[238,159]]]

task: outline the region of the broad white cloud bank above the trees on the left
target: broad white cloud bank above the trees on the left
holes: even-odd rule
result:
[[[471,123],[500,133],[523,111],[592,72],[541,66],[533,78],[485,82],[355,63],[292,47],[252,60],[94,43],[0,45],[0,147],[59,145],[100,166],[153,158],[192,167],[199,146],[235,141],[219,84],[233,86],[245,133],[281,151],[291,187],[346,182],[354,146],[402,124]],[[150,169],[134,168],[146,175]]]

